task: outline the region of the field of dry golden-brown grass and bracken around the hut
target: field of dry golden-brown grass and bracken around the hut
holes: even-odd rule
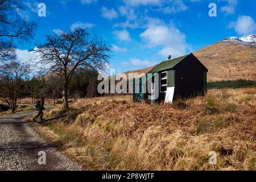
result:
[[[85,169],[256,170],[255,101],[255,88],[159,105],[131,96],[83,99],[67,118],[34,128]],[[217,152],[214,166],[209,151]]]

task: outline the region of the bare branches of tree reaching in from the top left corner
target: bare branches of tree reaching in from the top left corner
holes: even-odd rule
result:
[[[0,63],[15,59],[14,40],[27,41],[33,37],[36,23],[24,20],[22,1],[0,0]]]

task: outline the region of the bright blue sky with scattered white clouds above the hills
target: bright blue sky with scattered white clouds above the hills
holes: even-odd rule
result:
[[[113,46],[110,68],[116,73],[160,63],[194,52],[230,36],[256,33],[256,1],[251,0],[45,0],[23,1],[20,16],[38,23],[35,39],[17,44],[19,59],[34,57],[29,50],[50,32],[88,28]],[[46,17],[38,4],[46,4]],[[209,3],[217,16],[210,17]]]

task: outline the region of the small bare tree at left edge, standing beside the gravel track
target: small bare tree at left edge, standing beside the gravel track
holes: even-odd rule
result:
[[[0,100],[11,106],[14,113],[18,96],[22,93],[22,82],[30,71],[28,63],[11,61],[0,66]]]

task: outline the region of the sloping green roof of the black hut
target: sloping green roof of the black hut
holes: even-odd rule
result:
[[[172,69],[187,56],[188,55],[184,55],[181,57],[176,57],[175,59],[163,61],[162,63],[158,64],[155,68],[151,69],[151,71],[149,71],[148,73],[158,73],[160,71]]]

